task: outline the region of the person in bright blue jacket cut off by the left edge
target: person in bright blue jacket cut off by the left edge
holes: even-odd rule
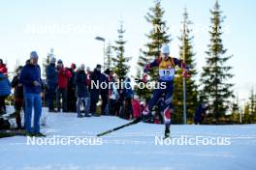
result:
[[[5,111],[5,99],[11,94],[11,84],[4,73],[0,73],[0,115]]]

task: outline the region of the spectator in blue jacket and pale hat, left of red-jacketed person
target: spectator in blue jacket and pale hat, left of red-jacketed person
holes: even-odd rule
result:
[[[58,72],[56,70],[55,63],[56,59],[52,57],[47,67],[48,112],[57,112],[53,106],[58,82]]]

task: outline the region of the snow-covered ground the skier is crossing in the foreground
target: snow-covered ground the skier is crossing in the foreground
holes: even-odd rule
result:
[[[127,121],[102,116],[77,118],[73,113],[47,113],[42,131],[53,138],[94,137]],[[226,138],[230,145],[156,145],[164,126],[140,123],[102,137],[102,145],[27,145],[27,138],[0,139],[0,170],[253,170],[256,168],[256,125],[172,126],[172,139]],[[159,139],[158,138],[158,139]],[[44,140],[45,140],[44,139]],[[94,139],[94,138],[93,138]],[[228,142],[228,143],[229,143]],[[227,144],[227,143],[226,143]]]

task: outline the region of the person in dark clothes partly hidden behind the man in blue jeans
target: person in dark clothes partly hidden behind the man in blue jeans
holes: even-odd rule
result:
[[[11,117],[16,118],[16,126],[18,129],[21,129],[21,117],[20,117],[20,111],[23,106],[23,85],[19,83],[19,75],[20,71],[22,70],[22,67],[18,67],[16,70],[16,76],[12,80],[12,87],[15,88],[15,113],[10,115]],[[24,110],[25,113],[25,110]]]

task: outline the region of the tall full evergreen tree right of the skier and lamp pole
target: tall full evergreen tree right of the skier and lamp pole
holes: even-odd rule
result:
[[[225,66],[226,62],[232,57],[225,57],[227,49],[224,48],[221,35],[221,23],[224,17],[218,1],[215,2],[213,10],[210,10],[212,17],[210,18],[210,42],[208,51],[206,52],[207,66],[203,68],[201,83],[203,85],[202,97],[208,100],[210,113],[214,115],[216,123],[220,116],[224,116],[229,104],[230,98],[233,96],[232,87],[234,84],[229,83],[229,80],[234,76],[230,71],[232,67]]]

